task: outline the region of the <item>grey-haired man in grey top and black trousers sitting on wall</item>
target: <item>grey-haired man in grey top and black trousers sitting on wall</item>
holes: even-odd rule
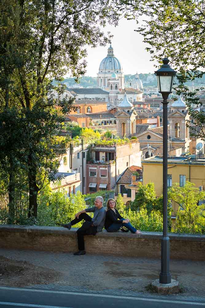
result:
[[[101,232],[104,227],[106,210],[103,206],[103,197],[96,197],[94,203],[95,206],[92,208],[84,209],[75,214],[75,219],[73,219],[69,224],[61,225],[64,228],[70,230],[71,226],[77,224],[83,219],[85,220],[82,227],[77,230],[77,242],[79,251],[74,253],[75,256],[85,254],[84,235],[96,235],[96,233]],[[94,212],[93,218],[86,214],[89,212]]]

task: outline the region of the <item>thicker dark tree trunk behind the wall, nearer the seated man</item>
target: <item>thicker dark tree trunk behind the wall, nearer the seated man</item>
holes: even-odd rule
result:
[[[29,212],[28,218],[37,218],[37,193],[39,188],[36,184],[37,170],[36,165],[33,160],[29,159]]]

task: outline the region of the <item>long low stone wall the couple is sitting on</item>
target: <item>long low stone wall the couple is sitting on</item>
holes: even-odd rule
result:
[[[0,247],[42,251],[74,252],[77,250],[76,230],[61,227],[0,225]],[[85,236],[87,253],[116,256],[160,258],[160,232],[97,233]],[[169,233],[170,257],[205,261],[205,236]]]

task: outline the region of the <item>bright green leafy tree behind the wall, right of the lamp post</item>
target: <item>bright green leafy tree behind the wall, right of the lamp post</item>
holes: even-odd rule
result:
[[[204,233],[205,206],[198,205],[205,199],[205,193],[199,191],[194,183],[186,182],[183,187],[174,183],[170,188],[170,197],[180,205],[176,215],[175,232]]]

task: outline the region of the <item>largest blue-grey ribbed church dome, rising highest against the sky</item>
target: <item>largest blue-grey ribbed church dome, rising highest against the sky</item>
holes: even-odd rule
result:
[[[114,56],[113,48],[111,45],[108,48],[107,57],[101,61],[99,67],[99,73],[109,73],[108,71],[111,73],[121,73],[122,71],[122,65],[120,61]]]

